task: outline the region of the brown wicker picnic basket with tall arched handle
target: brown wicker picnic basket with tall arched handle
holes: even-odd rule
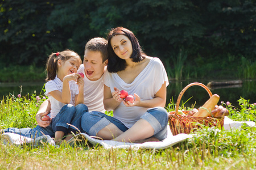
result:
[[[191,113],[191,111],[182,111],[184,115],[178,114],[181,97],[183,96],[184,92],[191,86],[201,86],[205,90],[207,90],[210,97],[212,96],[212,92],[210,92],[209,88],[202,83],[191,83],[188,84],[188,86],[186,86],[185,88],[183,88],[183,90],[180,92],[177,98],[175,111],[169,112],[168,122],[173,135],[177,135],[180,133],[189,134],[192,131],[201,128],[202,125],[209,127],[222,127],[224,124],[224,118],[193,117],[188,115],[189,113]]]

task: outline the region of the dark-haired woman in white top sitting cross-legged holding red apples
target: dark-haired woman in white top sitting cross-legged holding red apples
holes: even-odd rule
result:
[[[120,142],[161,141],[167,137],[166,70],[159,58],[148,57],[133,32],[117,27],[108,34],[108,71],[104,77],[104,107],[87,112],[82,129],[89,135]],[[120,91],[134,95],[125,101]],[[85,118],[86,117],[86,118]]]

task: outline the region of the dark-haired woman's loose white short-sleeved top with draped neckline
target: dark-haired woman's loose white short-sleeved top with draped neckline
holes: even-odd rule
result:
[[[104,82],[106,86],[110,87],[111,92],[114,91],[114,87],[117,87],[120,91],[126,90],[130,95],[137,94],[141,100],[154,99],[156,92],[160,90],[163,83],[166,82],[166,86],[169,84],[163,63],[156,57],[151,57],[148,65],[130,84],[125,83],[117,73],[109,73],[108,71],[105,73]],[[120,103],[114,109],[113,114],[127,128],[131,128],[146,113],[147,109],[144,107],[126,107],[125,104]]]

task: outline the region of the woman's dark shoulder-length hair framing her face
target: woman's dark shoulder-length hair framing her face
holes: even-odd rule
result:
[[[133,32],[123,27],[113,28],[108,33],[108,56],[109,56],[108,71],[109,73],[117,73],[117,71],[125,70],[126,68],[125,59],[121,59],[117,56],[117,54],[115,54],[112,48],[112,45],[110,43],[112,37],[116,35],[127,36],[128,39],[131,41],[131,45],[133,47],[133,53],[131,54],[130,58],[133,59],[133,62],[140,62],[145,58],[142,48],[139,45],[139,42]]]

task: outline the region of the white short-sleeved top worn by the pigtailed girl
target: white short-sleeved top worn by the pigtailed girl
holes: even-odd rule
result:
[[[54,118],[59,112],[60,109],[65,105],[64,103],[61,103],[60,101],[56,100],[54,97],[52,97],[49,92],[59,90],[62,92],[63,89],[63,82],[59,78],[57,78],[57,75],[55,79],[49,80],[49,82],[46,83],[46,95],[49,97],[49,101],[51,102],[51,118]],[[70,104],[75,105],[75,96],[79,94],[79,88],[75,81],[69,81],[69,89],[71,92],[71,100]]]

